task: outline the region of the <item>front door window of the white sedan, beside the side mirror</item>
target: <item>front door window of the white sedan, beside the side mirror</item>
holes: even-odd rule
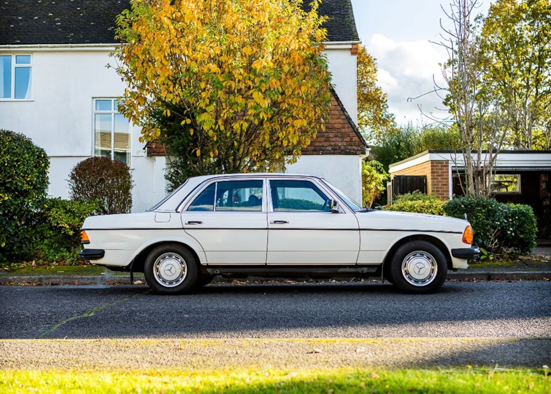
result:
[[[329,198],[310,181],[270,181],[276,212],[329,212]]]

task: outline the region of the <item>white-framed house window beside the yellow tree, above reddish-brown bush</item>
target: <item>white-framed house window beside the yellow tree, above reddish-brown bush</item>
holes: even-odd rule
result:
[[[94,100],[94,154],[130,165],[130,123],[116,99]]]

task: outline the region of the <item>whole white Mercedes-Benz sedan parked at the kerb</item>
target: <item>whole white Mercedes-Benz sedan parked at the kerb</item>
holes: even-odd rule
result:
[[[448,269],[478,258],[466,220],[366,209],[310,175],[188,179],[147,212],[89,217],[80,257],[143,272],[159,293],[224,277],[385,278],[439,289]]]

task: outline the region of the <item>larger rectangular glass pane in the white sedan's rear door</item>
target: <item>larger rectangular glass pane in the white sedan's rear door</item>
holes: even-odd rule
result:
[[[217,211],[262,211],[262,181],[218,182]]]

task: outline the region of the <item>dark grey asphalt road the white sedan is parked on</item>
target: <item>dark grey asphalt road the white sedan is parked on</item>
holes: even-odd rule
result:
[[[551,337],[550,282],[0,287],[0,338]]]

